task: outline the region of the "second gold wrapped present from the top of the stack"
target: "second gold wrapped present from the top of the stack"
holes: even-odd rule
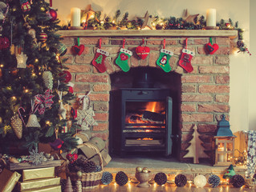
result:
[[[18,182],[19,190],[30,190],[45,186],[59,186],[60,178],[40,178],[36,180]]]

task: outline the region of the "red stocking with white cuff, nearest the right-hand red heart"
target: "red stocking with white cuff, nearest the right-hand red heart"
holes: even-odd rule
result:
[[[193,66],[191,65],[191,59],[195,55],[193,51],[187,50],[188,48],[188,38],[185,40],[186,48],[182,50],[179,65],[186,70],[188,73],[193,71]]]

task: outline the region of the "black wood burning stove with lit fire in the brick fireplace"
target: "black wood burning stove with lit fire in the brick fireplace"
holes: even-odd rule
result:
[[[110,152],[159,151],[172,154],[171,90],[121,88],[110,92]]]

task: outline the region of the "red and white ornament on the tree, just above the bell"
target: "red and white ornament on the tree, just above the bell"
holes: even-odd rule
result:
[[[36,110],[39,110],[39,114],[44,114],[47,108],[50,108],[53,104],[52,98],[54,95],[50,94],[51,90],[46,90],[43,94],[35,95]],[[35,110],[35,111],[36,111]]]

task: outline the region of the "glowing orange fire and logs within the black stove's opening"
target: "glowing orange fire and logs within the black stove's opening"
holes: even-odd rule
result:
[[[134,133],[134,137],[126,138],[126,146],[164,145],[165,141],[157,133],[165,132],[165,104],[164,101],[126,102],[124,133]]]

